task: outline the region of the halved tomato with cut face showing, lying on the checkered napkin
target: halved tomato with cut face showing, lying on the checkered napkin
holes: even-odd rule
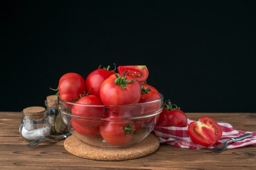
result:
[[[188,127],[189,137],[195,144],[212,146],[222,136],[222,130],[217,122],[210,117],[200,117]]]

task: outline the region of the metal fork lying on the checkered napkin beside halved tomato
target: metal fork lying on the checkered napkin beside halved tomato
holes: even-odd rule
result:
[[[252,136],[253,136],[252,133],[247,133],[247,134],[242,135],[242,136],[240,136],[240,137],[231,138],[231,139],[225,141],[225,142],[222,143],[222,144],[218,144],[215,148],[212,148],[212,149],[205,148],[205,149],[211,150],[211,151],[213,151],[213,152],[222,152],[222,151],[224,151],[224,150],[227,149],[227,144],[233,143],[233,142],[236,142],[236,141],[240,141],[240,140],[242,140],[242,139],[245,139],[245,138],[248,138],[248,137],[252,137]]]

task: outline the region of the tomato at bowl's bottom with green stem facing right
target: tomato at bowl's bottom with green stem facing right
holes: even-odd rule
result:
[[[99,132],[105,141],[111,145],[126,145],[130,142],[134,124],[132,121],[108,121],[99,126]]]

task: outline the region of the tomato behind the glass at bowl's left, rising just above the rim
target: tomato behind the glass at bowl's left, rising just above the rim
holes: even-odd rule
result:
[[[79,99],[72,107],[72,115],[85,118],[100,118],[103,117],[103,108],[90,105],[102,105],[101,100],[94,95],[84,96]],[[83,127],[98,126],[100,121],[92,121],[85,119],[75,119],[76,123]]]

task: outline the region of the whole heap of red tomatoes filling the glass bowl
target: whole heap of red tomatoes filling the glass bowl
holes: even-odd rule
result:
[[[132,107],[119,110],[117,106],[103,108],[90,105],[137,104],[154,101],[161,96],[156,88],[144,83],[148,78],[146,66],[119,66],[118,73],[109,69],[110,66],[99,67],[85,80],[77,73],[66,73],[59,80],[58,95],[64,101],[75,103],[69,109],[72,115],[81,117],[71,118],[72,128],[76,132],[88,137],[101,136],[112,145],[124,145],[130,142],[146,119],[115,121],[131,117],[134,113]],[[86,104],[86,107],[82,104]],[[99,117],[109,121],[93,119]]]

